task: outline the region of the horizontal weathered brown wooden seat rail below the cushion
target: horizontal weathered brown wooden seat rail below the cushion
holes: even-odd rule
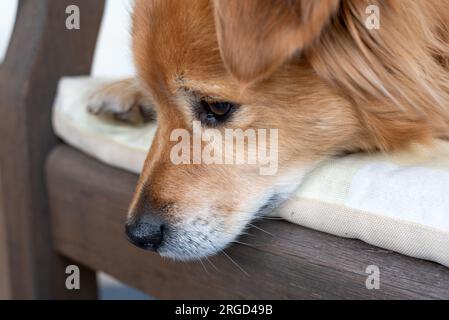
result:
[[[137,177],[69,147],[48,162],[57,250],[158,298],[431,299],[449,298],[449,269],[281,221],[250,230],[245,245],[201,263],[175,263],[136,249],[124,220]],[[368,265],[381,272],[380,290],[365,286]],[[207,268],[207,272],[205,271]]]

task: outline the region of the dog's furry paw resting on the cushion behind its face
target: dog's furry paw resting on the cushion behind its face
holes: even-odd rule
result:
[[[152,99],[141,89],[137,79],[101,86],[89,98],[88,111],[134,125],[156,117]]]

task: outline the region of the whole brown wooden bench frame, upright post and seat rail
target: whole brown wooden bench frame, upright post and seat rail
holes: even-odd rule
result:
[[[72,4],[80,30],[65,28]],[[166,299],[449,298],[448,268],[283,221],[259,223],[266,232],[250,230],[210,262],[130,245],[124,219],[137,176],[64,145],[50,120],[60,77],[90,72],[103,8],[20,1],[0,66],[0,298],[97,298],[97,271]],[[71,264],[79,291],[65,288]],[[369,265],[380,268],[379,290],[366,288]]]

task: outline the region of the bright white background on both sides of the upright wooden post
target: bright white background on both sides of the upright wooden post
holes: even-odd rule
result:
[[[9,43],[17,2],[0,0],[0,61]],[[132,3],[133,0],[107,0],[92,68],[94,76],[126,77],[134,73],[129,33]]]

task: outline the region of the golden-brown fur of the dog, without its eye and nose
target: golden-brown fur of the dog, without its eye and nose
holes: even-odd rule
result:
[[[379,30],[365,27],[373,4]],[[448,137],[447,0],[137,0],[132,35],[132,96],[152,97],[159,128],[129,218],[165,218],[164,256],[223,249],[327,157]],[[227,128],[278,128],[278,174],[172,164],[170,133],[192,130],[198,96],[240,106]]]

